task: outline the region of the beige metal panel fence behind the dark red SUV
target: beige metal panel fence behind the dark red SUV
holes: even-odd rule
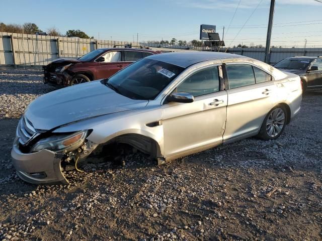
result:
[[[136,42],[80,39],[0,32],[0,65],[46,65],[57,58],[77,58],[98,48]]]

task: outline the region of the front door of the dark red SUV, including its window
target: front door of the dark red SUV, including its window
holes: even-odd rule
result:
[[[109,78],[120,71],[123,66],[121,61],[121,51],[109,51],[104,53],[104,61],[99,62],[96,71],[96,79]]]

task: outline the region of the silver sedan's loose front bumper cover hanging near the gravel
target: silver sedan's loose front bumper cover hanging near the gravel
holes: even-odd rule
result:
[[[11,157],[18,176],[33,184],[68,184],[60,170],[59,154],[43,149],[36,153],[22,153],[15,140]]]

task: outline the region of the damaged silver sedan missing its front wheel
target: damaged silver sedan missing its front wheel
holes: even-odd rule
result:
[[[153,55],[34,100],[17,128],[13,164],[27,182],[66,184],[63,169],[111,143],[164,163],[252,136],[274,140],[299,112],[301,94],[297,75],[248,57]]]

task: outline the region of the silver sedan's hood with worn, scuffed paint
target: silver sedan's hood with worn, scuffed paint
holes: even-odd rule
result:
[[[147,103],[118,94],[97,80],[44,94],[28,105],[25,116],[35,129],[51,130],[86,118],[143,108]]]

